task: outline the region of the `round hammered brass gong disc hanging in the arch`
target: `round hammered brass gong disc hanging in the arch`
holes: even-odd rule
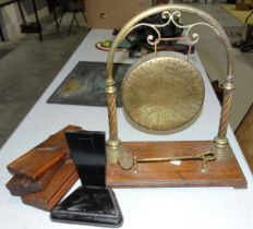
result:
[[[179,129],[200,112],[204,83],[185,56],[147,55],[133,64],[122,83],[125,113],[136,124],[155,131]]]

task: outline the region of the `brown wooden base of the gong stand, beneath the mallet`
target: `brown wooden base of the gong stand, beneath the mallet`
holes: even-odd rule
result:
[[[170,157],[202,154],[210,149],[212,141],[123,142],[125,152],[138,158]],[[231,150],[229,146],[229,150]],[[202,160],[142,162],[134,169],[123,170],[117,164],[107,165],[106,182],[110,188],[159,186],[233,186],[246,188],[246,180],[233,155],[228,159],[208,161],[202,171]]]

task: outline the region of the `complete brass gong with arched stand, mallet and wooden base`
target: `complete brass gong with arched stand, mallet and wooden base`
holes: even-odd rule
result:
[[[197,22],[189,25],[181,25],[177,23],[181,20],[181,12],[191,13],[200,16],[203,22]],[[160,14],[165,22],[164,24],[148,24],[142,23],[145,17],[154,14]],[[179,20],[178,20],[179,19]],[[190,32],[197,25],[205,25],[212,28],[222,41],[227,56],[227,76],[224,84],[224,101],[221,107],[219,126],[217,136],[210,141],[169,141],[169,142],[121,142],[118,136],[118,120],[117,120],[117,87],[115,84],[115,77],[112,74],[113,58],[117,47],[120,41],[124,39],[134,28],[138,26],[148,26],[154,29],[157,37],[153,35],[147,36],[147,43],[154,46],[155,52],[147,55],[147,57],[141,58],[142,60],[136,61],[128,71],[123,83],[122,83],[122,101],[123,109],[129,116],[130,120],[141,125],[141,128],[155,131],[168,131],[177,130],[180,126],[191,123],[197,117],[197,112],[201,110],[204,100],[204,83],[200,77],[200,73],[190,63],[189,60],[182,60],[182,57],[172,55],[167,57],[157,52],[157,44],[162,40],[159,33],[159,27],[167,26],[169,23],[173,23],[180,28],[184,28],[184,39],[188,45],[192,45],[198,41],[198,34]],[[190,53],[190,52],[189,52]],[[156,68],[156,63],[160,65]],[[168,86],[171,89],[170,81],[177,82],[177,76],[181,76],[179,85],[189,84],[186,75],[183,75],[183,71],[174,70],[174,65],[183,68],[184,72],[193,79],[195,87],[194,93],[191,94],[190,105],[182,104],[185,110],[190,110],[191,116],[184,120],[184,113],[180,113],[180,110],[173,110],[174,104],[182,103],[181,100],[172,100],[173,106],[166,105],[164,107],[155,107],[152,110],[155,113],[155,118],[145,117],[147,106],[144,101],[146,99],[146,92],[144,88],[146,82],[143,81],[142,71],[153,72],[158,71],[155,74],[158,75],[154,79],[164,81],[162,86]],[[150,68],[152,65],[152,68]],[[167,69],[167,72],[171,72],[171,76],[168,79],[161,79],[160,75],[166,75],[159,72],[159,69]],[[150,68],[150,70],[148,70]],[[158,69],[158,70],[157,70]],[[145,74],[146,74],[145,72]],[[133,76],[134,75],[134,76]],[[149,77],[152,80],[152,76]],[[149,80],[148,79],[148,80]],[[157,82],[158,82],[157,81]],[[153,81],[153,84],[157,83]],[[158,84],[158,83],[157,83]],[[141,94],[135,94],[134,99],[130,96],[133,87],[137,85]],[[182,86],[183,87],[183,86]],[[166,89],[167,92],[168,89]],[[178,88],[172,91],[178,93]],[[150,92],[150,91],[149,91]],[[227,129],[229,113],[231,109],[231,100],[233,93],[233,65],[231,58],[230,41],[219,23],[213,19],[209,14],[186,5],[180,4],[165,4],[152,8],[142,12],[130,20],[117,37],[113,40],[111,49],[108,53],[107,59],[107,79],[106,79],[106,93],[107,93],[107,107],[109,118],[109,140],[107,141],[107,178],[106,182],[108,186],[113,188],[141,188],[141,186],[234,186],[234,188],[246,188],[246,180],[240,169],[240,166],[232,153],[232,149],[227,140]],[[189,96],[188,92],[180,92],[179,97],[184,98]],[[134,94],[134,93],[132,93]],[[150,93],[149,93],[150,94]],[[140,97],[138,97],[140,96]],[[167,95],[167,97],[171,97]],[[144,98],[145,99],[144,99]],[[153,97],[149,104],[155,103]],[[162,98],[160,96],[160,98]],[[157,97],[156,97],[157,99]],[[134,104],[138,100],[141,104]],[[152,101],[153,100],[153,101]],[[162,101],[164,103],[164,101]],[[161,104],[162,104],[161,103]],[[145,105],[145,111],[143,108]],[[190,107],[188,107],[190,106]],[[149,109],[149,108],[148,108]],[[170,110],[172,109],[172,111]],[[137,110],[137,111],[136,111]],[[168,111],[169,110],[169,111]],[[173,112],[171,116],[168,113]],[[162,114],[165,113],[165,114]],[[174,120],[171,117],[176,117]],[[162,118],[162,119],[161,119]],[[153,123],[153,119],[155,120]],[[144,120],[144,121],[143,121]],[[145,120],[148,120],[147,122]],[[165,120],[161,122],[160,120]]]

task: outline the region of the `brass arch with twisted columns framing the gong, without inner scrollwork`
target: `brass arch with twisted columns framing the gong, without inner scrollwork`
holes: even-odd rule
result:
[[[107,142],[107,148],[108,148],[108,159],[112,161],[117,161],[117,158],[119,157],[119,154],[122,152],[120,140],[118,138],[118,126],[117,126],[117,107],[116,107],[116,87],[115,87],[115,80],[112,75],[112,67],[113,67],[113,59],[115,59],[115,52],[117,50],[117,47],[119,46],[120,41],[124,39],[124,37],[133,29],[133,27],[144,20],[147,16],[150,16],[153,14],[161,13],[167,11],[168,14],[172,11],[179,11],[179,12],[186,12],[194,15],[197,15],[198,17],[204,19],[207,23],[196,23],[197,24],[205,24],[209,26],[219,37],[219,39],[222,41],[226,56],[227,56],[227,79],[226,79],[226,85],[225,85],[225,94],[224,94],[224,104],[221,108],[221,114],[220,114],[220,121],[219,121],[219,129],[217,137],[214,140],[214,150],[217,152],[218,158],[227,158],[228,150],[226,150],[228,147],[228,140],[226,137],[227,134],[227,128],[228,128],[228,118],[231,109],[231,98],[232,98],[232,73],[233,73],[233,65],[232,65],[232,56],[231,56],[231,46],[229,38],[221,27],[221,25],[209,14],[205,13],[204,11],[201,11],[198,9],[184,5],[184,4],[164,4],[158,5],[155,8],[152,8],[149,10],[146,10],[142,12],[141,14],[134,16],[132,20],[130,20],[119,32],[116,39],[112,43],[111,49],[108,53],[107,58],[107,103],[108,103],[108,117],[109,117],[109,140]],[[170,14],[171,15],[171,14]],[[181,14],[180,14],[181,15]],[[194,26],[194,25],[193,25]],[[190,27],[193,26],[183,26],[183,27]],[[188,34],[188,33],[186,33]],[[194,34],[196,35],[196,34]]]

